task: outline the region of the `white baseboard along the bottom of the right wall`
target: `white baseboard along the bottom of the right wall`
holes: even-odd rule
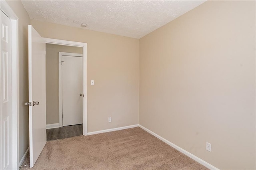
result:
[[[202,164],[203,166],[205,166],[206,168],[209,168],[210,170],[218,170],[218,168],[216,168],[215,166],[209,164],[208,162],[198,158],[197,156],[193,155],[192,153],[180,148],[179,146],[177,146],[176,144],[173,144],[172,142],[170,142],[169,140],[166,140],[165,138],[159,136],[158,134],[152,132],[151,130],[139,125],[140,128],[146,130],[147,132],[149,132],[150,134],[152,134],[153,136],[156,136],[158,139],[162,140],[163,142],[167,143],[168,145],[172,146],[173,148],[175,148],[176,150],[182,152],[183,154],[185,154],[186,156],[192,158],[193,160],[195,160],[196,162]]]

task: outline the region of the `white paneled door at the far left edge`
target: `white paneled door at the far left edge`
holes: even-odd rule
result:
[[[12,168],[12,55],[11,20],[0,10],[0,169]]]

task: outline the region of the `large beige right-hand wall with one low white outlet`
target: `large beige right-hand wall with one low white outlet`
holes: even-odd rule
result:
[[[140,39],[140,125],[217,168],[255,169],[255,40],[254,1],[207,1]]]

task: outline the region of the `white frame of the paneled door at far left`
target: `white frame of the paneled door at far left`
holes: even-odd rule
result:
[[[18,17],[5,0],[0,1],[0,9],[11,20],[12,46],[12,168],[19,169],[19,53],[18,53]],[[1,119],[1,117],[0,117]],[[1,129],[0,129],[1,130]],[[1,141],[1,135],[0,135]]]

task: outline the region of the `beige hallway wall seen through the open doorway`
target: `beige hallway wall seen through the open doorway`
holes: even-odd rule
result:
[[[83,53],[82,47],[46,44],[46,124],[59,123],[59,52]]]

